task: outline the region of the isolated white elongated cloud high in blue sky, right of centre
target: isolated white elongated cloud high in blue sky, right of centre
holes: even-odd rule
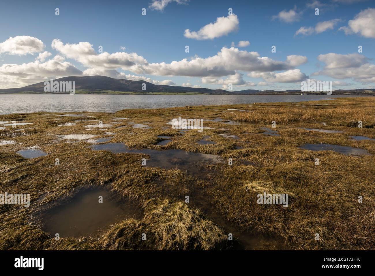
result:
[[[197,40],[214,39],[237,31],[239,25],[237,15],[233,14],[227,17],[218,17],[214,23],[203,26],[198,32],[190,32],[189,29],[186,29],[184,36]]]

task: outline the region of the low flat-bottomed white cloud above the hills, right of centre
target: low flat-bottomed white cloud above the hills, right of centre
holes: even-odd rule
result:
[[[269,82],[294,83],[306,80],[307,75],[302,73],[300,69],[288,70],[285,72],[250,72],[248,74],[252,78],[263,78]]]

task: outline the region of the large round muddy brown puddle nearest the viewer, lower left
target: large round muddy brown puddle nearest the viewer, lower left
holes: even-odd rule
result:
[[[103,202],[99,203],[99,196]],[[45,232],[55,237],[81,237],[99,234],[110,225],[130,217],[139,217],[141,212],[130,201],[122,200],[104,187],[78,191],[61,205],[43,212],[40,220]]]

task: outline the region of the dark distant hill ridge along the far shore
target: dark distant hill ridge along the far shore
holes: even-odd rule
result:
[[[144,80],[122,80],[105,76],[63,77],[54,81],[75,81],[77,94],[207,94],[207,95],[299,95],[300,90],[227,91],[223,89],[157,85]],[[142,84],[146,90],[142,90]],[[44,81],[20,88],[0,89],[0,94],[68,94],[69,92],[44,92]],[[325,92],[304,92],[308,95],[326,95]],[[334,90],[332,95],[375,95],[375,89]]]

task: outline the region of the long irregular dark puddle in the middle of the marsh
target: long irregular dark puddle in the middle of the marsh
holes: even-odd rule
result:
[[[114,153],[142,153],[150,155],[146,158],[146,166],[161,167],[163,169],[181,169],[192,173],[199,173],[199,169],[204,166],[197,166],[197,163],[220,163],[222,158],[216,154],[204,154],[200,152],[187,152],[181,149],[167,149],[158,151],[155,149],[129,149],[124,143],[108,143],[101,145],[92,145],[94,150],[105,150]]]

